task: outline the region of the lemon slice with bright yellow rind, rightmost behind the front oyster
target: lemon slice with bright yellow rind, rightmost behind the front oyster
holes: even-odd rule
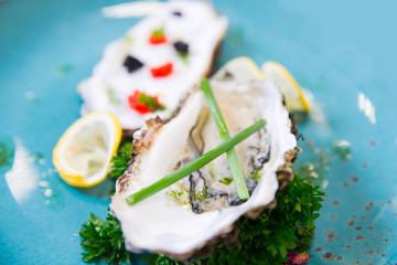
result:
[[[310,112],[311,96],[303,92],[288,70],[276,62],[265,62],[261,66],[266,78],[272,80],[286,97],[287,107],[296,112]]]

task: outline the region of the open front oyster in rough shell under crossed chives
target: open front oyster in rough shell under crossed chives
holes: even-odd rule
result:
[[[260,118],[267,120],[264,129],[235,147],[250,199],[238,199],[223,155],[142,202],[132,206],[126,203],[128,195],[221,144],[204,95],[196,89],[170,121],[149,119],[133,136],[132,160],[118,179],[110,204],[129,251],[186,261],[218,241],[235,237],[235,222],[242,215],[257,216],[273,201],[278,176],[292,176],[297,140],[279,89],[270,81],[240,82],[246,78],[236,78],[238,73],[219,73],[224,74],[216,75],[211,84],[230,135]]]

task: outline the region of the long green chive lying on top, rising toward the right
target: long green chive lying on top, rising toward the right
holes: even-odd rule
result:
[[[260,119],[254,125],[249,126],[248,128],[242,130],[236,136],[232,137],[228,140],[225,140],[219,146],[215,147],[211,151],[204,153],[200,158],[193,160],[192,162],[187,163],[186,166],[180,168],[179,170],[168,174],[167,177],[162,178],[161,180],[154,182],[153,184],[142,189],[141,191],[138,191],[137,193],[133,193],[126,198],[126,201],[129,205],[133,205],[146,198],[165,189],[169,186],[172,186],[176,181],[183,179],[184,177],[193,173],[197,169],[202,168],[203,166],[207,165],[222,153],[226,152],[230,148],[233,148],[235,145],[239,144],[240,141],[245,140],[259,129],[264,128],[266,125],[265,119]]]

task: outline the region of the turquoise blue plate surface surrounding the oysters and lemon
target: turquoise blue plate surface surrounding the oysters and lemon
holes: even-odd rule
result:
[[[89,76],[104,46],[136,21],[100,15],[100,8],[118,2],[0,2],[0,144],[24,151],[30,159],[22,167],[33,168],[41,181],[17,203],[4,178],[12,156],[0,166],[1,264],[81,264],[82,223],[90,212],[106,215],[106,189],[65,184],[52,171],[51,153],[79,116],[76,85]],[[397,264],[397,3],[214,2],[230,20],[221,64],[238,55],[258,64],[278,61],[314,94],[326,117],[300,125],[305,141],[297,171],[319,159],[313,145],[330,160],[310,264]],[[358,109],[360,93],[376,108],[375,125]],[[337,139],[352,144],[352,159],[332,151]],[[334,259],[324,258],[328,252]]]

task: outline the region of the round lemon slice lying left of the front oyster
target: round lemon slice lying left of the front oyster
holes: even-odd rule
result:
[[[111,157],[121,140],[122,129],[109,113],[90,113],[77,119],[62,135],[53,151],[53,163],[61,178],[75,187],[92,187],[103,181]]]

